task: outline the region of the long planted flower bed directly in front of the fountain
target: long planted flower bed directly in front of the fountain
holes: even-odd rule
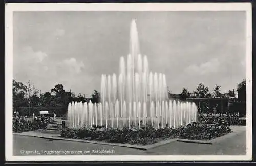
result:
[[[64,128],[61,131],[61,137],[148,145],[157,143],[159,140],[171,138],[210,140],[229,132],[231,132],[231,129],[226,124],[210,125],[195,122],[175,129],[169,127],[155,129],[152,126],[141,127],[140,129],[128,129],[126,127],[122,129],[106,129],[104,126],[93,126],[90,129]]]

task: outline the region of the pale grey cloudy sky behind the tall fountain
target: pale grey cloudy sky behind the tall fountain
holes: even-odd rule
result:
[[[41,92],[57,83],[76,94],[100,91],[101,74],[118,73],[137,19],[150,70],[165,73],[173,93],[236,89],[246,77],[245,12],[15,12],[13,77]]]

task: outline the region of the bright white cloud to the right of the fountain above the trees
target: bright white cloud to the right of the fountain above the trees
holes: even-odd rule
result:
[[[190,65],[185,69],[185,71],[187,73],[197,73],[198,75],[205,75],[218,72],[219,67],[219,60],[217,58],[214,58],[208,62],[201,63],[200,65]]]

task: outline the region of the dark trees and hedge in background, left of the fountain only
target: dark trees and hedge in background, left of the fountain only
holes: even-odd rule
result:
[[[13,111],[19,111],[20,107],[58,107],[67,109],[72,101],[86,102],[91,100],[93,103],[100,101],[100,93],[94,91],[90,98],[86,98],[81,93],[77,96],[74,92],[65,91],[62,84],[57,84],[50,91],[40,93],[31,83],[17,82],[13,79],[12,87]]]

